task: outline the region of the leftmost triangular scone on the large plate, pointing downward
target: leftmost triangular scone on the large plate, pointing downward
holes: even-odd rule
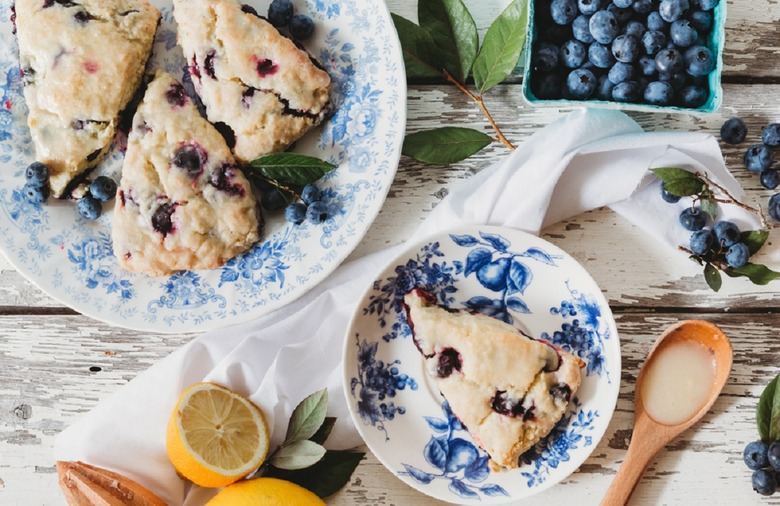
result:
[[[147,0],[16,0],[27,123],[55,197],[111,146],[159,20]]]

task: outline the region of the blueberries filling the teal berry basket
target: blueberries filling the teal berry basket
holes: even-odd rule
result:
[[[537,0],[531,89],[543,100],[698,108],[718,0]]]

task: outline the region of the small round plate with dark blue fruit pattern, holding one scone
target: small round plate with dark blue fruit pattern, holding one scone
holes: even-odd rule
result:
[[[586,362],[553,432],[512,471],[488,457],[429,383],[399,301],[414,287],[451,308],[480,311],[552,341]],[[344,349],[352,418],[396,476],[437,499],[499,504],[574,472],[609,425],[620,387],[620,344],[599,287],[553,244],[514,229],[465,226],[411,245],[360,299]]]

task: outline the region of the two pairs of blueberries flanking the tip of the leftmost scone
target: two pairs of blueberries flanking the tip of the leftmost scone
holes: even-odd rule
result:
[[[24,171],[26,180],[22,195],[30,203],[43,204],[49,199],[49,168],[41,162],[31,163]],[[76,208],[84,219],[96,220],[103,213],[103,203],[116,196],[116,182],[107,176],[98,176],[86,193],[78,199]]]

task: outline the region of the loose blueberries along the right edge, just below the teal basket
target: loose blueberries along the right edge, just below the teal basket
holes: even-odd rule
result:
[[[731,118],[720,128],[720,138],[727,144],[741,144],[747,134],[747,125],[740,118]],[[750,172],[760,175],[761,186],[767,190],[774,190],[780,185],[780,171],[771,168],[777,148],[780,148],[780,123],[771,123],[764,127],[761,143],[750,145],[742,158]],[[773,220],[780,221],[780,193],[769,198],[767,210]]]

